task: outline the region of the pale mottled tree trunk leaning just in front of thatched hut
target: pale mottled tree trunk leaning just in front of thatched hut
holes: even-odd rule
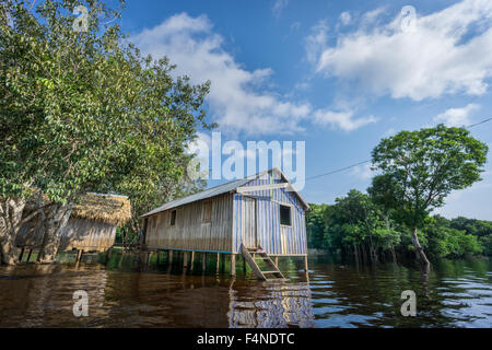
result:
[[[57,203],[50,208],[48,215],[43,218],[45,233],[37,262],[49,264],[55,261],[55,257],[58,253],[58,245],[60,243],[61,231],[72,213],[72,208],[73,206],[71,202],[68,202],[67,205]]]

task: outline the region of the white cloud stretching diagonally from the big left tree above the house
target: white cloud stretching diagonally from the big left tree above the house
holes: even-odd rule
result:
[[[212,30],[206,15],[181,13],[130,39],[153,57],[167,56],[177,63],[176,73],[189,75],[192,83],[210,80],[207,101],[223,131],[258,135],[304,130],[300,124],[311,115],[311,104],[265,91],[272,70],[245,69],[224,50],[222,36]]]

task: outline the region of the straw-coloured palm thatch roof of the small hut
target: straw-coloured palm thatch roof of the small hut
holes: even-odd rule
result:
[[[85,194],[78,199],[71,218],[124,225],[131,219],[131,205],[126,196]]]

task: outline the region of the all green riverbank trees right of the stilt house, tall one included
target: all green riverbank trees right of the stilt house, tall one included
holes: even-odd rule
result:
[[[376,176],[367,192],[351,190],[335,205],[313,205],[308,243],[377,262],[415,256],[491,254],[492,222],[431,215],[453,191],[480,180],[488,147],[465,128],[438,125],[400,131],[372,152]],[[426,253],[425,253],[426,252]]]

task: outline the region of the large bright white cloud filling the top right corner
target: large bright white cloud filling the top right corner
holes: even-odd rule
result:
[[[327,31],[318,27],[306,45],[316,71],[394,98],[487,92],[492,77],[492,1],[464,0],[417,15],[412,31],[402,31],[408,18],[401,13],[380,24],[384,11],[364,14],[359,27],[342,34],[335,46],[327,46]]]

